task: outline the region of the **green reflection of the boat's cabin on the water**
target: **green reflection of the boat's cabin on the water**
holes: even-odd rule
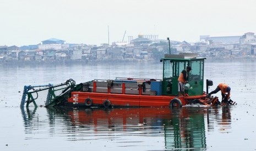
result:
[[[182,108],[166,127],[166,148],[206,148],[205,109]]]

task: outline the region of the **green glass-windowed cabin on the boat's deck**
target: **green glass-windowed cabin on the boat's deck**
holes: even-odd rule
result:
[[[189,96],[203,95],[204,88],[204,60],[194,53],[183,53],[179,55],[168,55],[161,59],[163,62],[162,94],[178,95],[178,77],[183,69],[190,66],[192,70],[188,73],[188,83],[191,88],[185,90]]]

